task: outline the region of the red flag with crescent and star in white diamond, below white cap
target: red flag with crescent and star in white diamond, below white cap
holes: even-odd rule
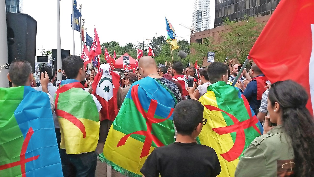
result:
[[[111,71],[109,64],[100,65],[94,82],[93,92],[102,108],[100,110],[102,120],[113,121],[118,114],[117,93],[120,87],[120,76]]]

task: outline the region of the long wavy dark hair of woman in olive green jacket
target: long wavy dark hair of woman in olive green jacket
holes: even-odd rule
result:
[[[308,95],[292,80],[272,84],[268,92],[271,106],[278,102],[285,132],[291,138],[294,151],[295,176],[314,174],[314,119],[306,109]]]

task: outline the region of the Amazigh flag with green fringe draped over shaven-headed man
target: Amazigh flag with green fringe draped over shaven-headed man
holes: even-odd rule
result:
[[[130,177],[155,147],[174,142],[172,112],[176,99],[158,79],[145,77],[132,84],[114,120],[100,160]]]

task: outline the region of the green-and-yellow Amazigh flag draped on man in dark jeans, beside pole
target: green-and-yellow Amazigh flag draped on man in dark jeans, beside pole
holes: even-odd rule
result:
[[[95,151],[99,138],[99,114],[91,94],[75,79],[61,81],[55,96],[61,144],[67,154]]]

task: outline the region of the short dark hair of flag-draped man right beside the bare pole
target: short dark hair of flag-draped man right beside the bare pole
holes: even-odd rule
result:
[[[75,79],[78,76],[78,71],[83,67],[83,60],[76,55],[70,55],[62,61],[62,67],[69,79]]]

